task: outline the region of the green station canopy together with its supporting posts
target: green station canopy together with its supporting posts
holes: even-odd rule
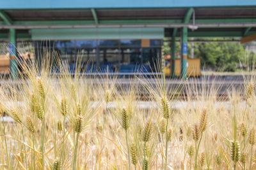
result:
[[[193,28],[191,26],[197,29],[190,29]],[[0,6],[0,40],[9,39],[13,56],[17,54],[16,39],[141,39],[141,42],[150,42],[150,39],[168,37],[172,38],[174,60],[175,38],[181,38],[182,78],[187,75],[189,37],[236,37],[245,43],[255,40],[255,34],[255,0],[95,0],[86,3],[83,0],[72,3],[61,0],[9,0],[1,2]],[[123,60],[120,56],[125,55],[127,48],[121,49],[120,41],[116,46],[120,65],[120,60]],[[146,49],[148,45],[141,43],[141,48]],[[107,51],[104,48],[102,52],[97,52],[97,65],[100,65],[99,55],[105,56]],[[12,57],[13,77],[17,75],[15,67],[17,61]],[[174,62],[172,70],[175,70]]]

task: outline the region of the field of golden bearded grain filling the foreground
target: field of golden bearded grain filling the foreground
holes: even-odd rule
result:
[[[22,69],[1,80],[0,169],[256,169],[254,73],[224,100],[164,76],[124,86],[49,61]]]

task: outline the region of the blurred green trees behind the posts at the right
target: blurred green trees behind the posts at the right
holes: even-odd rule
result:
[[[180,53],[180,43],[176,43],[176,53]],[[171,53],[170,45],[164,44],[164,54]],[[191,57],[191,43],[188,43],[188,58]],[[194,43],[194,57],[201,59],[201,67],[215,71],[236,71],[239,62],[255,62],[256,53],[248,52],[246,45],[239,42]],[[176,59],[179,59],[176,56]],[[246,64],[245,64],[246,65]]]

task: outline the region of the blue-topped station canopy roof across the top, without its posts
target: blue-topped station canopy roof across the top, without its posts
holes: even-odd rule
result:
[[[54,31],[64,29],[81,31],[81,34],[86,34],[86,30],[104,32],[113,29],[106,34],[116,34],[117,31],[121,35],[128,35],[132,34],[135,28],[141,28],[141,32],[160,32],[163,37],[172,37],[174,28],[178,28],[176,35],[180,36],[181,27],[191,28],[188,29],[188,37],[244,37],[256,34],[256,1],[217,0],[214,4],[204,1],[192,3],[188,0],[163,0],[157,1],[158,3],[143,0],[144,3],[134,1],[132,4],[132,0],[129,3],[121,1],[122,3],[114,4],[114,1],[102,1],[80,5],[79,0],[74,3],[59,1],[59,4],[50,1],[47,3],[48,0],[41,3],[29,3],[30,1],[21,4],[21,1],[12,0],[0,6],[0,38],[8,38],[8,29],[11,28],[17,30],[17,38],[25,39],[44,38],[38,35],[49,34],[49,31],[54,34]],[[100,36],[97,32],[94,34]]]

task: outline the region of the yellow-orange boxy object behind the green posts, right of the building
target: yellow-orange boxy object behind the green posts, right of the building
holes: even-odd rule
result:
[[[172,76],[172,62],[164,67],[166,76]],[[180,76],[180,59],[175,59],[175,76]],[[187,76],[201,76],[200,59],[188,59]]]

